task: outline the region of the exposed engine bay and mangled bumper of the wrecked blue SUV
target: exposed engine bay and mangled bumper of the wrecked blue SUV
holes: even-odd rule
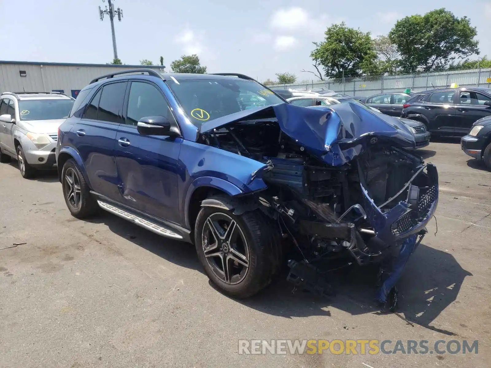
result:
[[[285,134],[276,119],[235,122],[200,139],[267,165],[261,175],[268,187],[257,195],[297,251],[289,281],[328,294],[312,270],[348,255],[359,265],[381,263],[377,300],[387,302],[399,266],[421,241],[435,210],[435,166],[377,136],[367,138],[356,158],[329,165]]]

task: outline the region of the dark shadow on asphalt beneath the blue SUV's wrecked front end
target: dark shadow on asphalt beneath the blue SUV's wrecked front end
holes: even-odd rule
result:
[[[336,291],[330,298],[299,290],[292,293],[293,285],[286,282],[283,277],[286,275],[281,275],[281,279],[263,292],[238,302],[263,313],[287,318],[330,316],[329,307],[352,315],[380,314],[380,306],[373,299],[377,271],[377,267],[352,265],[330,272],[328,280]],[[431,323],[456,300],[465,276],[471,275],[451,254],[420,244],[398,283],[397,312],[403,313],[413,323],[453,335],[451,331],[432,326]]]

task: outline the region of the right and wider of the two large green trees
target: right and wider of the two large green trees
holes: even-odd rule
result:
[[[458,18],[441,8],[397,21],[389,38],[397,45],[405,72],[431,72],[446,68],[456,59],[479,54],[476,34],[467,17]]]

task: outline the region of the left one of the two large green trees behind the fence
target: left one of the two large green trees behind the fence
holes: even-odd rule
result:
[[[326,77],[340,78],[374,70],[377,53],[370,32],[347,27],[344,22],[327,28],[323,42],[316,43],[310,57],[324,68]]]

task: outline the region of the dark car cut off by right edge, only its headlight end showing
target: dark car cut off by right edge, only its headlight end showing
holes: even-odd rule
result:
[[[461,148],[470,157],[482,159],[491,170],[491,116],[473,124],[469,134],[461,138]]]

